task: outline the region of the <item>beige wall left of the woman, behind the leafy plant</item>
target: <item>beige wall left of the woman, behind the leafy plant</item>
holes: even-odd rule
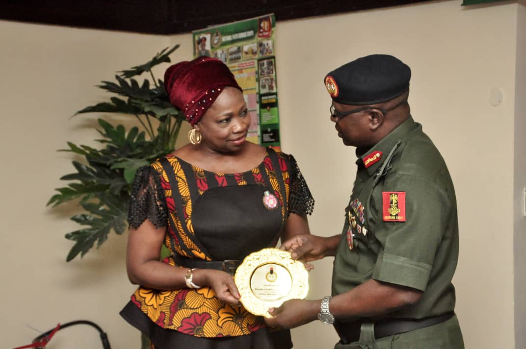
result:
[[[185,44],[174,59],[189,56]],[[145,63],[168,46],[164,36],[0,22],[2,118],[0,182],[4,200],[0,275],[2,347],[31,342],[58,322],[88,319],[108,332],[114,348],[134,348],[139,334],[118,315],[134,290],[125,272],[126,235],[112,234],[83,260],[66,263],[79,229],[75,207],[46,208],[59,177],[72,171],[66,141],[93,145],[94,116],[69,119],[76,110],[108,98],[95,85],[115,72]],[[162,78],[162,71],[157,74]],[[122,120],[122,118],[114,118]],[[100,348],[90,327],[60,331],[48,347]]]

